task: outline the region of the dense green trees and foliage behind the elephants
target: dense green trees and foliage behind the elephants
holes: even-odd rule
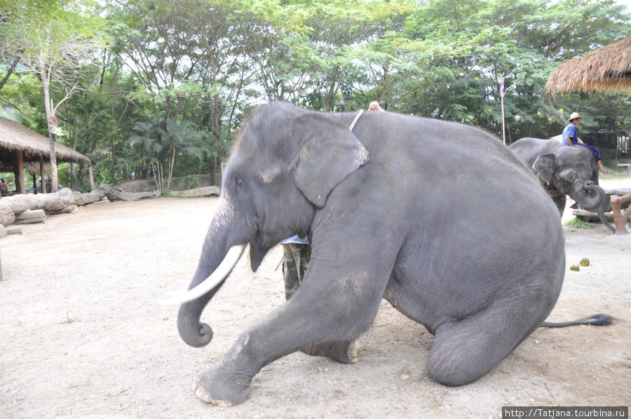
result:
[[[114,184],[158,170],[214,180],[270,99],[323,111],[378,100],[501,137],[503,77],[508,142],[556,135],[574,110],[583,130],[631,132],[629,97],[542,95],[563,60],[629,36],[630,22],[614,0],[0,0],[0,107],[48,135],[45,80],[24,55],[46,52],[57,141]],[[81,187],[85,170],[62,183]]]

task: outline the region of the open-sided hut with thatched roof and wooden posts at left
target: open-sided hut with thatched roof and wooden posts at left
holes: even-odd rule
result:
[[[89,158],[57,142],[55,156],[58,162],[86,163],[90,172],[90,186],[94,189]],[[31,172],[39,172],[41,179],[44,179],[47,163],[50,164],[48,137],[10,119],[0,118],[0,172],[15,173],[15,189],[18,193],[26,192],[25,167]]]

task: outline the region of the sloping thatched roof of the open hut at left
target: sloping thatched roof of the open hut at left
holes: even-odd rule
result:
[[[39,156],[50,159],[48,138],[24,125],[0,118],[0,156],[22,150],[25,161],[39,161]],[[90,164],[90,159],[70,147],[55,142],[57,161],[74,161]],[[3,158],[2,160],[6,160]]]

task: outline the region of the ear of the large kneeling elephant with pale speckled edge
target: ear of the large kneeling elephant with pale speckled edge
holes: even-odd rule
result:
[[[308,114],[297,121],[304,142],[294,160],[294,183],[317,207],[324,207],[332,189],[368,161],[368,151],[343,125]]]

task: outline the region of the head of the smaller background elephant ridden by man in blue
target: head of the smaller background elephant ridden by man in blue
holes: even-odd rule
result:
[[[582,207],[598,209],[604,202],[604,190],[598,186],[596,159],[585,147],[559,146],[554,153],[538,156],[533,169],[539,179],[569,195]]]

